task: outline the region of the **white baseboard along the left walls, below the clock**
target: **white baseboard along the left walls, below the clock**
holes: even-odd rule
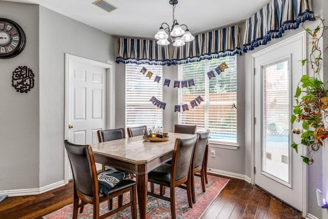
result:
[[[9,197],[12,196],[24,196],[24,195],[37,195],[52,189],[56,189],[58,187],[65,186],[65,182],[59,181],[57,183],[53,183],[41,188],[34,188],[34,189],[14,189],[14,190],[7,190],[7,191],[0,191],[0,195],[8,195]]]

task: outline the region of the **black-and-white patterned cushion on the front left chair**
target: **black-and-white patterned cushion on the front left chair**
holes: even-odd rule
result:
[[[129,178],[130,174],[127,172],[121,172],[114,169],[108,169],[97,173],[99,192],[108,195],[109,191],[117,184],[121,183],[126,178]]]

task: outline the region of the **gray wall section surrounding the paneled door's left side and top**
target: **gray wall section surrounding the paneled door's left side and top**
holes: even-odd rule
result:
[[[64,177],[65,53],[102,63],[115,54],[112,36],[47,8],[40,7],[39,23],[42,187]]]

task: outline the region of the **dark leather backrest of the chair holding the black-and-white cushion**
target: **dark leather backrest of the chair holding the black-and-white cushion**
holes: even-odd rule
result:
[[[68,140],[65,140],[64,144],[71,163],[75,189],[94,197],[94,191],[98,191],[95,188],[98,187],[98,178],[91,146],[76,145]]]

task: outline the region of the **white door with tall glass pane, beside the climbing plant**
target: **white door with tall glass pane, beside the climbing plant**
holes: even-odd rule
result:
[[[300,142],[302,126],[290,123],[294,94],[304,73],[305,34],[291,36],[253,56],[254,182],[285,203],[303,211],[304,164],[290,147]],[[299,129],[300,133],[292,130]],[[296,131],[297,132],[297,131]]]

